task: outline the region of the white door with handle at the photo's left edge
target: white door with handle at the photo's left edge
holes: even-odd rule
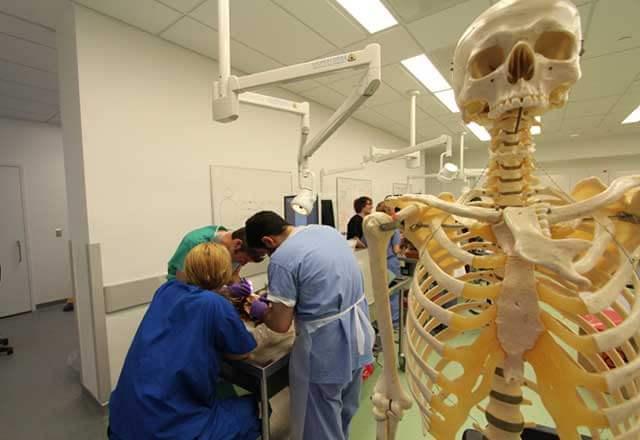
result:
[[[20,170],[0,166],[0,318],[29,310]]]

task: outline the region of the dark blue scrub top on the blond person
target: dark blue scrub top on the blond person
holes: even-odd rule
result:
[[[109,403],[118,439],[196,439],[216,405],[222,354],[256,347],[222,296],[169,281],[155,293]]]

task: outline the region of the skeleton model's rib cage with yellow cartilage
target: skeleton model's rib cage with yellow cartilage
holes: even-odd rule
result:
[[[532,204],[545,203],[549,206],[572,201],[556,191],[544,189],[532,191],[529,200]],[[399,199],[398,206],[403,204],[406,203],[402,203],[402,198]],[[605,213],[608,214],[610,213]],[[504,353],[496,336],[495,301],[489,304],[487,300],[496,298],[496,287],[500,287],[504,276],[506,255],[487,225],[476,224],[469,232],[464,233],[459,227],[444,227],[442,230],[447,237],[460,249],[482,249],[489,254],[488,258],[474,259],[472,266],[475,266],[475,271],[460,278],[465,281],[465,285],[482,283],[486,287],[473,289],[470,296],[463,292],[457,305],[445,309],[443,306],[455,300],[457,295],[445,289],[433,274],[428,273],[425,260],[432,259],[448,275],[464,267],[463,261],[452,256],[434,238],[437,230],[433,226],[434,219],[439,218],[445,226],[459,225],[455,224],[451,216],[442,211],[434,214],[433,208],[426,206],[421,217],[428,220],[422,220],[421,223],[429,226],[412,227],[416,223],[407,222],[405,228],[407,238],[420,250],[420,261],[416,266],[409,296],[408,342],[405,350],[407,378],[411,393],[423,414],[425,430],[438,440],[446,440],[455,438],[467,415],[476,405],[486,404],[492,390],[494,373],[503,361]],[[593,242],[596,224],[593,217],[589,217],[574,224],[552,225],[549,233],[553,239],[581,238]],[[633,254],[640,244],[638,225],[615,218],[612,226],[614,240],[607,245],[596,267],[584,274],[592,282],[593,291],[611,281],[616,270],[624,263],[624,258]],[[470,241],[477,238],[483,241]],[[622,246],[624,252],[619,252],[619,246]],[[492,267],[483,267],[482,262],[493,264],[489,265]],[[640,438],[637,417],[637,399],[640,399],[638,374],[623,386],[613,389],[607,387],[607,377],[612,375],[606,374],[621,370],[625,365],[628,368],[634,361],[640,363],[637,340],[640,322],[631,322],[633,332],[630,337],[603,352],[586,347],[586,343],[581,344],[578,359],[578,353],[572,347],[576,345],[575,337],[578,340],[582,337],[584,340],[585,335],[594,335],[596,330],[584,317],[587,313],[572,313],[570,310],[563,310],[560,305],[567,300],[576,304],[580,298],[579,289],[544,267],[536,266],[535,276],[545,331],[534,349],[525,354],[525,361],[533,367],[536,378],[527,377],[523,387],[540,396],[563,439],[579,438],[580,427],[588,429],[583,429],[582,432],[588,432],[594,439]],[[635,272],[633,278],[636,287],[624,288],[611,304],[622,318],[622,325],[628,320],[629,310],[636,305],[638,280]],[[540,286],[546,287],[547,293],[550,289],[553,290],[555,295],[546,294],[543,295],[544,299],[540,298]],[[472,312],[478,314],[474,315]],[[600,311],[593,315],[604,324],[605,330],[600,333],[601,337],[616,331],[607,314]],[[451,325],[452,320],[454,325]],[[469,329],[461,329],[460,322],[468,325]],[[456,346],[456,339],[460,339],[462,334],[472,336],[467,338],[466,345]],[[561,357],[569,362],[554,362],[554,359]],[[462,372],[452,380],[446,379],[443,372],[455,367],[461,367]],[[559,390],[567,394],[568,400],[559,401]],[[630,414],[625,411],[626,406],[633,408]],[[618,419],[620,423],[617,423]]]

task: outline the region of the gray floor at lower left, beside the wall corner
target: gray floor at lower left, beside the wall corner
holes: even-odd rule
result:
[[[106,438],[106,411],[86,395],[68,365],[77,350],[74,313],[62,306],[0,319],[12,356],[0,356],[0,439]]]

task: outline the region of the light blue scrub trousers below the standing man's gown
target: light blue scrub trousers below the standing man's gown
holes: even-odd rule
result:
[[[351,419],[360,406],[362,368],[345,384],[309,383],[304,440],[347,440]]]

